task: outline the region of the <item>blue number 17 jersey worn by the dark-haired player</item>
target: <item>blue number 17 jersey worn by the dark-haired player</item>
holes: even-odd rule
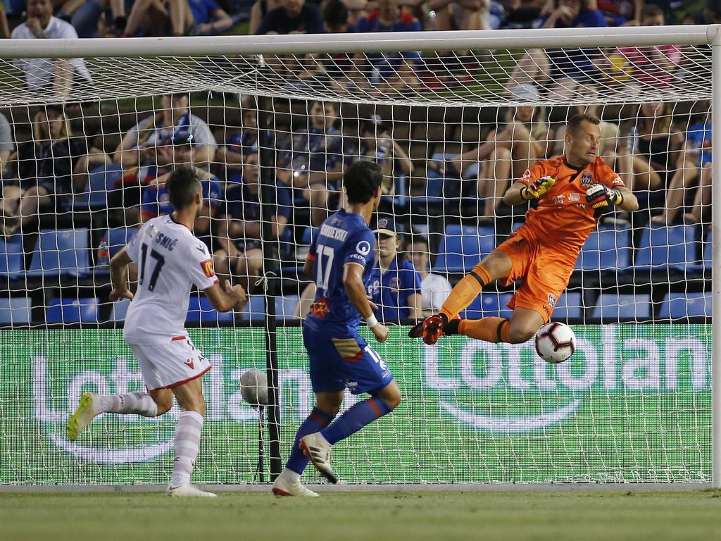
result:
[[[338,211],[323,222],[308,254],[314,262],[316,298],[306,325],[322,327],[332,336],[355,335],[361,314],[345,292],[343,268],[346,263],[362,265],[367,286],[375,259],[373,242],[373,232],[360,214]]]

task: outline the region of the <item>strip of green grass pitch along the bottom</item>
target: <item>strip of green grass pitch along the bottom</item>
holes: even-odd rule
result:
[[[5,541],[710,541],[721,532],[721,492],[0,493],[0,525]]]

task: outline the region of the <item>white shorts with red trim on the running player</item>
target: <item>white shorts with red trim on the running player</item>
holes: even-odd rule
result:
[[[135,353],[150,392],[172,389],[211,369],[208,359],[187,336],[176,336],[167,344],[128,344]]]

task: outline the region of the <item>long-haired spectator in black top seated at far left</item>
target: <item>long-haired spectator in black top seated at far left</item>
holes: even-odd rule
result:
[[[21,192],[17,214],[22,224],[35,219],[38,209],[68,210],[73,193],[85,189],[89,168],[110,161],[100,149],[88,149],[84,137],[72,136],[70,122],[59,105],[46,105],[35,113],[32,140],[19,145],[13,158]],[[19,226],[14,224],[10,232]]]

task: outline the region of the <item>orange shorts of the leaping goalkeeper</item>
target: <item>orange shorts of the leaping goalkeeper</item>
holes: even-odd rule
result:
[[[535,310],[544,322],[550,320],[571,278],[578,253],[541,243],[525,226],[511,234],[496,250],[505,252],[511,260],[505,285],[522,281],[508,307]]]

